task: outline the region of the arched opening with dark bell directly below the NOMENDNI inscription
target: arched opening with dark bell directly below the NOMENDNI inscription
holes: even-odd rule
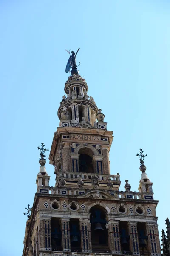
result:
[[[79,172],[94,173],[93,155],[94,152],[89,148],[79,150]]]

